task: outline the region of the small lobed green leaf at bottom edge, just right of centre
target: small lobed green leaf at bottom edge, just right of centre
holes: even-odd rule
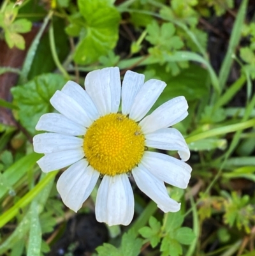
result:
[[[122,236],[121,252],[123,256],[138,256],[142,248],[142,239],[136,238],[135,231],[130,229]]]

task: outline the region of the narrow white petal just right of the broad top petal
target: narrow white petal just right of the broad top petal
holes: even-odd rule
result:
[[[129,114],[136,94],[143,86],[144,75],[128,70],[124,75],[121,89],[122,114]]]

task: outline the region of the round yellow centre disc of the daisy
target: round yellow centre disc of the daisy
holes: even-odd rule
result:
[[[142,159],[145,137],[138,124],[122,114],[99,117],[84,137],[89,164],[101,174],[131,171]]]

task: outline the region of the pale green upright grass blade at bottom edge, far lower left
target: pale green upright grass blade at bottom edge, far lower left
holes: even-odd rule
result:
[[[41,253],[41,225],[37,208],[38,203],[33,201],[31,204],[31,221],[29,240],[27,246],[27,256],[40,256]]]

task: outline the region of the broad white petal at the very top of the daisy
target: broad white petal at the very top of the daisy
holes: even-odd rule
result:
[[[85,89],[96,105],[100,116],[116,113],[120,104],[119,68],[103,68],[89,72]]]

